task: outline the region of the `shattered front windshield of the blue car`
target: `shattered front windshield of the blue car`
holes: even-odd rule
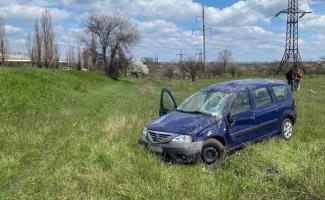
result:
[[[220,116],[231,95],[231,92],[225,91],[201,91],[186,99],[177,111]]]

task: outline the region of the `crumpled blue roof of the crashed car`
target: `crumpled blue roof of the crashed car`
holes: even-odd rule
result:
[[[273,86],[273,85],[286,85],[286,82],[282,80],[275,80],[275,79],[235,80],[235,81],[217,83],[202,89],[202,91],[209,92],[209,91],[223,90],[223,91],[236,92],[240,90],[245,90],[246,88],[255,88],[255,87],[263,87],[263,86],[266,87],[266,86]]]

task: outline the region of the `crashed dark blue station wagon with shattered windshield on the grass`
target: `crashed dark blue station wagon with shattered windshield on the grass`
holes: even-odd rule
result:
[[[201,89],[180,106],[163,89],[160,118],[143,130],[149,150],[181,163],[219,165],[245,143],[281,134],[289,140],[297,121],[295,102],[280,80],[238,80]]]

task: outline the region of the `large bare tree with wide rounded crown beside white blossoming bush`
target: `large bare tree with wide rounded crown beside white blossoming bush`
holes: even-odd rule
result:
[[[106,15],[94,12],[89,15],[85,25],[88,38],[95,36],[95,39],[91,38],[91,41],[96,41],[96,46],[99,48],[96,60],[102,60],[107,75],[118,79],[120,69],[115,60],[118,57],[118,51],[123,49],[126,52],[130,46],[135,44],[139,40],[138,31],[127,19],[118,14]],[[90,46],[91,42],[88,40],[86,44]]]

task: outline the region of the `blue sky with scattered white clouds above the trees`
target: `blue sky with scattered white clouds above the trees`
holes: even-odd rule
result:
[[[61,59],[83,32],[83,22],[92,11],[118,12],[134,24],[141,39],[131,49],[132,57],[158,56],[160,61],[178,61],[179,49],[197,56],[202,49],[200,31],[205,5],[207,59],[218,59],[228,49],[235,61],[281,60],[285,47],[286,16],[273,16],[287,8],[286,0],[0,0],[10,49],[26,52],[26,38],[41,12],[53,18]],[[303,60],[325,55],[325,0],[300,0],[299,7],[312,14],[300,20],[300,51]]]

